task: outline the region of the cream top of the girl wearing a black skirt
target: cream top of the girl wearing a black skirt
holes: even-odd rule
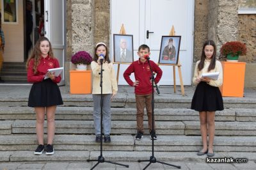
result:
[[[194,76],[193,76],[193,83],[196,84],[196,85],[198,84],[198,82],[196,82],[196,78],[197,77],[202,77],[202,73],[220,72],[220,75],[219,75],[219,77],[216,81],[211,80],[210,82],[208,82],[208,84],[211,85],[211,86],[220,87],[222,85],[222,82],[223,82],[223,72],[222,72],[222,66],[221,66],[220,61],[216,60],[215,68],[212,69],[210,72],[208,72],[208,67],[211,63],[211,60],[205,59],[204,68],[200,71],[198,70],[198,64],[199,63],[200,63],[200,61],[196,62],[195,73],[194,73]]]

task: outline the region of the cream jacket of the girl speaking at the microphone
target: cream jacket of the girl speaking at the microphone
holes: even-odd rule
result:
[[[92,74],[93,74],[93,89],[92,94],[100,94],[100,65],[95,61],[91,63]],[[105,62],[102,65],[102,94],[112,94],[117,93],[117,82],[115,69],[113,63]]]

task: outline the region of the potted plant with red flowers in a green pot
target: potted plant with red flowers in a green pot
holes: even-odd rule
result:
[[[239,56],[246,55],[246,45],[242,42],[226,42],[222,45],[220,53],[227,61],[238,61]]]

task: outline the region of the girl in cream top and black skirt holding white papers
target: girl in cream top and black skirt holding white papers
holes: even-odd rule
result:
[[[202,77],[202,73],[219,72],[217,80]],[[197,155],[207,153],[208,157],[214,156],[213,141],[215,132],[215,111],[223,110],[223,100],[218,87],[223,82],[222,66],[216,60],[216,45],[212,40],[207,40],[202,49],[200,61],[196,62],[193,83],[196,84],[195,93],[191,102],[191,109],[199,112],[200,131],[202,135],[202,150]],[[207,144],[207,132],[209,141]]]

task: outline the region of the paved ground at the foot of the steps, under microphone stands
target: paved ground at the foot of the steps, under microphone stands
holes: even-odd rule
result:
[[[124,166],[117,166],[114,164],[109,164],[108,162],[98,164],[94,169],[104,169],[104,170],[122,170],[122,169],[133,169],[133,170],[141,170],[147,166],[148,162],[118,162],[120,164],[129,165],[129,167]],[[181,166],[180,169],[246,169],[246,170],[253,170],[256,167],[255,162],[248,162],[245,164],[207,164],[207,163],[200,163],[200,162],[166,162],[168,164],[173,164],[176,166]],[[0,163],[1,170],[10,170],[10,169],[47,169],[47,170],[82,170],[82,169],[90,169],[95,166],[96,162],[12,162],[12,163]],[[176,167],[166,166],[160,163],[150,164],[147,169],[177,169]]]

